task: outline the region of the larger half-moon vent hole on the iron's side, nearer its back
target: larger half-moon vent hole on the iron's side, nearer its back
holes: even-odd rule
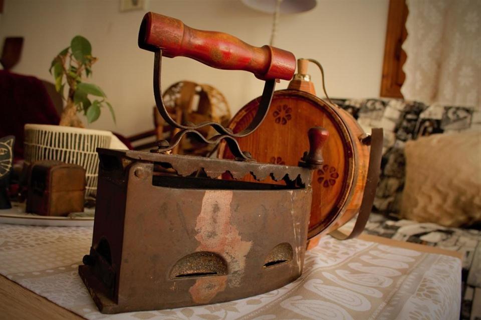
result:
[[[194,252],[179,259],[170,271],[170,278],[187,278],[227,274],[227,264],[218,254]]]

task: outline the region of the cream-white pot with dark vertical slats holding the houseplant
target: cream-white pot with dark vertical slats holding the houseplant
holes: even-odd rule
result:
[[[95,197],[97,193],[97,147],[127,149],[111,131],[30,123],[25,124],[24,130],[25,161],[59,160],[83,166],[86,170],[86,198]]]

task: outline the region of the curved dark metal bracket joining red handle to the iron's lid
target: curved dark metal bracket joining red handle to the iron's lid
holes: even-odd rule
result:
[[[159,49],[155,52],[154,56],[154,96],[155,96],[155,104],[157,105],[157,109],[160,112],[160,115],[164,118],[164,120],[170,124],[172,127],[176,127],[182,129],[178,132],[172,139],[172,143],[169,143],[168,146],[160,146],[158,149],[151,150],[152,152],[166,152],[173,149],[182,138],[183,135],[186,133],[196,133],[201,139],[206,143],[218,143],[221,139],[226,139],[227,145],[230,148],[232,154],[244,160],[252,160],[249,156],[246,156],[244,152],[240,150],[240,147],[235,140],[236,137],[243,137],[246,135],[251,134],[256,130],[259,125],[261,125],[262,121],[267,115],[269,111],[269,106],[271,105],[272,96],[274,94],[274,90],[276,87],[276,79],[266,80],[264,84],[264,90],[262,92],[261,101],[259,103],[259,108],[257,109],[256,115],[254,116],[253,120],[249,125],[242,131],[238,133],[233,133],[231,129],[223,127],[220,123],[213,122],[213,121],[206,121],[199,124],[194,125],[185,125],[177,123],[172,117],[170,117],[169,113],[167,112],[167,108],[164,105],[164,101],[162,99],[162,87],[161,87],[161,69],[162,69],[162,49]],[[200,129],[205,126],[212,126],[219,134],[213,136],[210,139],[206,139],[197,129]]]

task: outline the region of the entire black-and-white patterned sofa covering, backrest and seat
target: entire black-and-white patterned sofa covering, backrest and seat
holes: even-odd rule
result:
[[[481,231],[399,220],[405,177],[405,142],[423,135],[481,131],[481,112],[471,107],[426,105],[400,99],[334,99],[334,102],[350,112],[366,132],[372,127],[384,129],[381,176],[373,207],[374,212],[382,214],[371,214],[365,232],[461,252],[460,318],[481,316],[476,311],[472,313],[473,306],[481,302],[478,293],[481,292]]]

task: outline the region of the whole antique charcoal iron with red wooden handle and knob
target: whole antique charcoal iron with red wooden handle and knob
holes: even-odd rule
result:
[[[151,152],[99,148],[100,167],[90,254],[79,273],[103,313],[175,308],[248,297],[301,275],[311,208],[312,170],[323,164],[327,130],[307,132],[299,166],[257,163],[235,138],[254,131],[270,105],[276,79],[291,79],[296,59],[271,46],[189,28],[147,13],[139,45],[155,52],[159,112],[181,130]],[[259,111],[238,133],[215,122],[175,122],[161,97],[162,55],[243,69],[266,80]],[[204,138],[197,129],[217,132]],[[169,154],[183,135],[224,139],[233,160]],[[221,179],[228,172],[230,179]],[[256,182],[238,181],[246,175]],[[233,178],[233,179],[232,179]],[[275,181],[284,181],[279,184]]]

